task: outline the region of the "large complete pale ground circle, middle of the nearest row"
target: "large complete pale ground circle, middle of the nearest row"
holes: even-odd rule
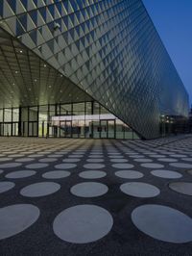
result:
[[[53,223],[54,233],[69,243],[91,243],[105,237],[113,219],[102,207],[77,205],[60,213]]]

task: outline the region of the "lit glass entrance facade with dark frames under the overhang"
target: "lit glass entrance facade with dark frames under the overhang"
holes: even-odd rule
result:
[[[96,102],[2,109],[0,117],[0,136],[138,139],[128,125]]]

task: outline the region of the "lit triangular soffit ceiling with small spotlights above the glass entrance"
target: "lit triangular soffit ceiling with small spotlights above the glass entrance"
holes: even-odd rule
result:
[[[92,100],[0,28],[0,108]]]

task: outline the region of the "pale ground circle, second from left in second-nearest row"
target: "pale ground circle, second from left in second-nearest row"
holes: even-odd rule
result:
[[[60,184],[55,182],[39,182],[23,188],[20,193],[28,197],[48,195],[60,190]]]

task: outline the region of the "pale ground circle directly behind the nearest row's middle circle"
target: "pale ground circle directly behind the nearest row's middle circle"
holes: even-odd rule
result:
[[[73,186],[70,192],[81,197],[96,197],[108,192],[108,187],[99,182],[83,182]]]

